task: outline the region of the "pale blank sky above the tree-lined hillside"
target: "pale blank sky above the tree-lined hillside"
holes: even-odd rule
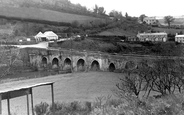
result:
[[[112,10],[127,12],[129,16],[182,16],[184,15],[184,0],[70,0],[72,3],[80,3],[89,9],[95,4],[103,6],[107,13]]]

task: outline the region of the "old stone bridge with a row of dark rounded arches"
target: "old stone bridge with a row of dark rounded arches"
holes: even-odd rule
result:
[[[136,68],[142,60],[152,64],[159,56],[109,55],[101,52],[27,48],[29,61],[39,70],[114,71]]]

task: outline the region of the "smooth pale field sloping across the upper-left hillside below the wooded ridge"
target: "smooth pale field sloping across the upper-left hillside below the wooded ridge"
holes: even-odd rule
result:
[[[9,7],[0,5],[0,16],[7,18],[18,18],[18,19],[33,19],[33,20],[44,20],[51,22],[65,22],[71,23],[75,20],[79,23],[84,23],[85,21],[101,20],[100,18],[82,16],[69,13],[61,13],[57,11],[51,11],[46,9],[38,8],[20,8],[20,7]]]

